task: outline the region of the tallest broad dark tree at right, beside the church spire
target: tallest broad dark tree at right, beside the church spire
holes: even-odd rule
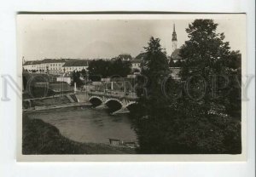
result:
[[[241,153],[241,125],[230,112],[241,111],[241,100],[237,100],[241,58],[239,52],[230,51],[217,27],[213,20],[195,20],[186,29],[189,40],[181,49],[181,76],[189,87],[177,104],[185,115],[182,126],[189,126],[183,133],[183,147],[195,152]]]

